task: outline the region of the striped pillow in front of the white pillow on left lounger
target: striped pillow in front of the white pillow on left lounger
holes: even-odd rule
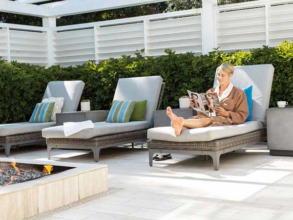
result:
[[[55,102],[38,103],[31,118],[29,119],[29,122],[48,122],[54,109],[54,105]]]

